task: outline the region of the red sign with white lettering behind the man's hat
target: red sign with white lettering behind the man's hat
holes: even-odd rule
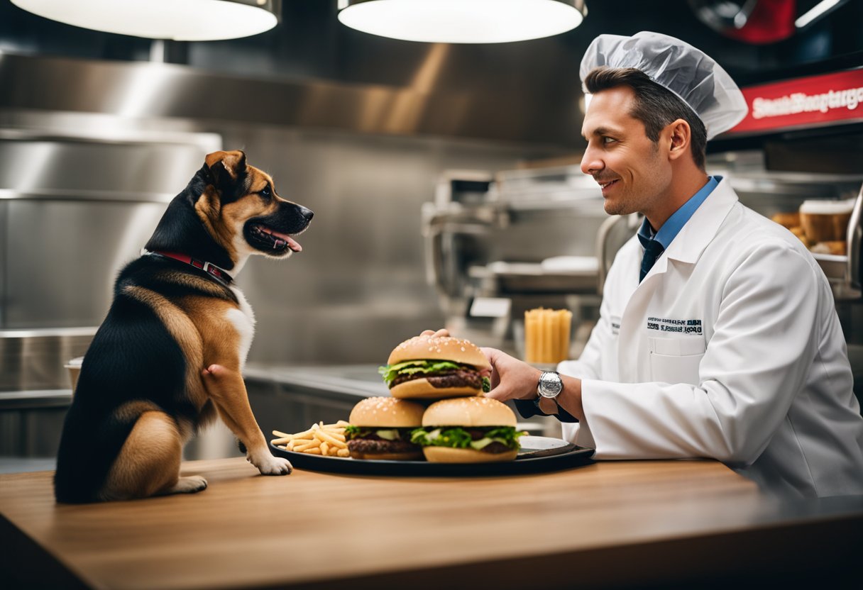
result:
[[[743,89],[749,112],[728,134],[863,121],[863,68]]]

